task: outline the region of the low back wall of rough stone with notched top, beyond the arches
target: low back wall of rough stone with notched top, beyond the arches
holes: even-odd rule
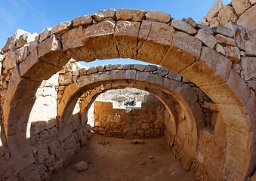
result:
[[[148,97],[140,109],[115,109],[113,102],[95,101],[94,132],[106,137],[123,138],[164,136],[165,106],[156,97]]]

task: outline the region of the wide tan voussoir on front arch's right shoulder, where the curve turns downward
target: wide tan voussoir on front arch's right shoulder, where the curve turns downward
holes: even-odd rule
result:
[[[197,86],[221,84],[229,78],[231,65],[231,61],[222,54],[211,48],[202,47],[200,60],[184,69],[180,74],[187,78],[193,78],[190,81]]]

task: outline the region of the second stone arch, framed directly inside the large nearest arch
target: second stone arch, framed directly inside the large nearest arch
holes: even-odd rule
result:
[[[109,69],[111,67],[111,69]],[[172,94],[177,103],[184,110],[187,118],[190,135],[190,150],[192,155],[196,157],[197,140],[199,130],[204,126],[202,109],[199,106],[198,97],[188,84],[181,82],[181,77],[174,72],[167,71],[157,66],[140,66],[140,65],[118,65],[118,66],[100,66],[93,69],[102,69],[95,73],[81,75],[77,81],[66,87],[65,92],[58,106],[58,116],[60,118],[60,140],[65,140],[71,133],[70,120],[72,110],[76,105],[79,97],[88,90],[91,90],[86,102],[91,103],[94,97],[102,93],[103,90],[110,90],[120,84],[136,84],[141,90],[152,89],[155,91],[156,97],[161,99],[161,90],[167,94]],[[90,72],[90,69],[88,70]],[[175,80],[176,79],[176,80]],[[113,86],[112,84],[116,85]],[[100,85],[108,84],[109,86],[100,87]],[[152,92],[154,94],[154,92]],[[163,97],[162,97],[163,98]],[[162,100],[167,104],[167,101]],[[170,108],[169,108],[170,109]],[[175,126],[176,124],[174,124]],[[174,130],[174,134],[177,130]]]

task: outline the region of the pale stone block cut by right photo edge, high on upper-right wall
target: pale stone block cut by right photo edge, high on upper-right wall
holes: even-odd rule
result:
[[[254,1],[254,4],[256,1]],[[245,26],[245,28],[251,29],[256,32],[256,5],[246,10],[237,20],[237,24]]]

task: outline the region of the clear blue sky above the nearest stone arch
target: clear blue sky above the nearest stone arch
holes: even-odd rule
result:
[[[176,19],[192,17],[199,22],[214,2],[215,0],[0,0],[0,48],[17,29],[40,33],[46,27],[103,9],[153,9],[171,14]],[[227,4],[230,0],[223,2]]]

